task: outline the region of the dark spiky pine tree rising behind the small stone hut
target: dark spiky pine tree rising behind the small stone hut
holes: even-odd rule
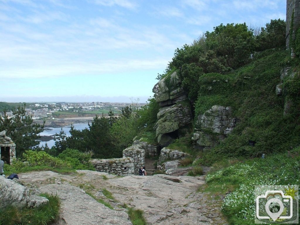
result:
[[[31,115],[26,115],[25,106],[19,106],[13,110],[13,117],[9,118],[6,111],[3,117],[0,117],[0,130],[6,130],[9,136],[16,144],[16,155],[20,156],[25,150],[36,147],[41,138],[38,135],[43,131],[44,124],[33,123]]]

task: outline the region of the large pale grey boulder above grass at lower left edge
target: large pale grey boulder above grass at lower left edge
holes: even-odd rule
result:
[[[48,201],[44,197],[29,194],[29,190],[21,184],[0,176],[0,208],[8,205],[18,208],[35,208]]]

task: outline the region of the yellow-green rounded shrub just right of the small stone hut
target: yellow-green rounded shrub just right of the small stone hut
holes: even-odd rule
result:
[[[50,166],[53,168],[69,166],[63,160],[50,156],[44,151],[25,151],[23,153],[23,160],[29,162],[30,166]]]

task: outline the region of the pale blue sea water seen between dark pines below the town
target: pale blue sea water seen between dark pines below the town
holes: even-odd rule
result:
[[[88,128],[88,123],[75,123],[75,124],[73,124],[73,126],[76,130],[83,130],[85,128]],[[39,135],[51,136],[51,135],[55,135],[56,133],[59,134],[59,132],[61,131],[61,128],[66,133],[67,136],[70,136],[71,125],[64,126],[64,127],[46,127],[43,132],[39,133]],[[48,147],[51,148],[52,146],[54,146],[55,141],[54,140],[41,141],[39,146],[40,147],[45,146],[46,143],[47,143]]]

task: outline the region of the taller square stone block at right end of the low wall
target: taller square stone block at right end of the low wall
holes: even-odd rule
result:
[[[139,168],[145,166],[145,150],[143,145],[137,144],[126,148],[123,151],[123,158],[129,157],[134,162],[134,175],[139,175]]]

